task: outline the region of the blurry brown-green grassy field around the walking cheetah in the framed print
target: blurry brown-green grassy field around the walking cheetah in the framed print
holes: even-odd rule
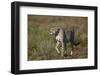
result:
[[[88,57],[87,17],[36,16],[28,15],[28,60],[79,59]],[[78,27],[80,45],[73,55],[61,57],[55,50],[56,41],[49,34],[50,28],[63,27],[65,30]],[[68,45],[70,51],[70,44]],[[68,52],[69,52],[68,51]]]

